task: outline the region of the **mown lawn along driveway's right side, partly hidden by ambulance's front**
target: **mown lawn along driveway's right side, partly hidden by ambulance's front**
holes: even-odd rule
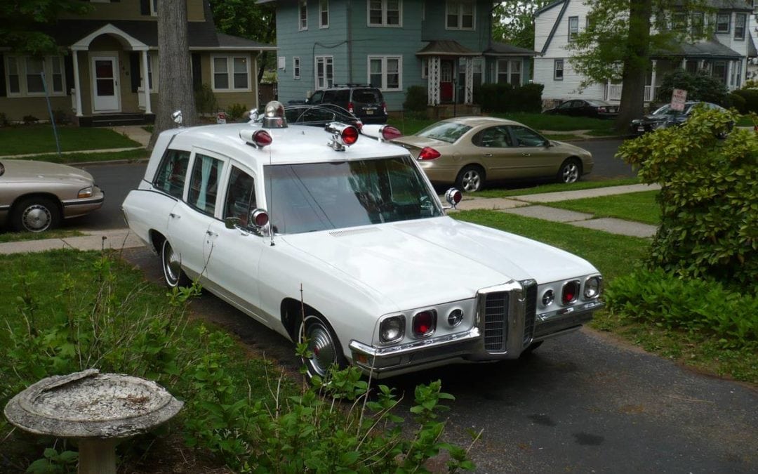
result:
[[[568,224],[547,224],[540,219],[504,212],[462,211],[453,217],[530,237],[575,253],[595,265],[606,284],[640,265],[650,245],[647,240],[637,237],[612,235]],[[606,309],[595,314],[590,327],[615,334],[650,353],[697,371],[758,383],[758,353],[750,347],[725,349],[724,344],[713,337],[667,330]]]

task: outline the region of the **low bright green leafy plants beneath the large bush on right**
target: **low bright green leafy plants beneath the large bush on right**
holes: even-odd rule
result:
[[[641,322],[697,332],[725,348],[758,348],[758,297],[717,281],[637,269],[611,281],[603,300],[612,311]]]

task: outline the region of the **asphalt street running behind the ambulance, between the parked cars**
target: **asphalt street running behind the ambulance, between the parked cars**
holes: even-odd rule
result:
[[[630,165],[626,165],[613,155],[621,140],[587,140],[572,142],[577,146],[590,150],[595,159],[594,171],[585,179],[595,180],[612,177],[634,177]],[[124,219],[121,217],[121,202],[130,190],[139,184],[145,174],[145,163],[130,163],[125,165],[91,165],[86,171],[92,173],[95,182],[105,190],[105,204],[102,209],[91,215],[77,218],[64,223],[67,228],[83,229],[113,229],[123,228]],[[513,187],[513,184],[509,185]],[[519,184],[521,187],[521,184]]]

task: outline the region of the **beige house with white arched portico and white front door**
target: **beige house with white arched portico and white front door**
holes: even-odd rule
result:
[[[60,55],[0,49],[0,113],[8,121],[64,111],[80,125],[152,123],[161,57],[159,0],[90,0],[86,17],[61,17],[47,33]],[[186,0],[193,85],[207,85],[218,109],[258,107],[258,57],[276,49],[218,33],[207,0]]]

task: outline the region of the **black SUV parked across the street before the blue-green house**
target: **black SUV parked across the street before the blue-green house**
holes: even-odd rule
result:
[[[370,85],[335,84],[329,89],[317,90],[310,99],[309,105],[335,104],[346,108],[364,124],[386,124],[387,104],[381,90]]]

